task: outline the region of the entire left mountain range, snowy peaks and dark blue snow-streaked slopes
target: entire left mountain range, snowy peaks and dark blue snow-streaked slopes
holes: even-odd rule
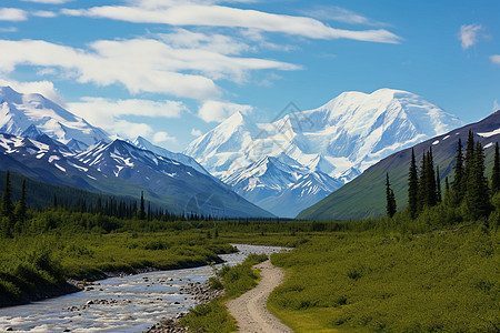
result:
[[[139,198],[174,213],[272,218],[192,158],[143,138],[111,139],[40,94],[0,88],[0,170],[104,194]]]

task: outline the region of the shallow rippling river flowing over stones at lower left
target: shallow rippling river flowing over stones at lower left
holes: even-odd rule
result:
[[[284,250],[236,246],[238,253],[220,255],[224,264],[241,263],[250,253]],[[21,332],[143,332],[196,306],[192,295],[181,294],[179,290],[188,283],[203,283],[212,275],[212,268],[202,266],[102,280],[90,291],[0,309],[0,331],[12,327]],[[86,305],[89,302],[99,304]]]

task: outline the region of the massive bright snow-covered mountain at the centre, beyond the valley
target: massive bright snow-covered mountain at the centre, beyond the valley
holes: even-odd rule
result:
[[[323,191],[313,199],[319,201],[391,153],[460,125],[457,117],[407,91],[344,92],[318,109],[283,114],[271,123],[256,123],[237,112],[184,153],[250,201],[266,201],[266,208],[280,215],[290,204],[286,216],[294,216],[311,204],[313,189]],[[302,171],[297,176],[276,172],[276,163],[259,164],[266,157],[279,157]],[[258,164],[260,171],[254,172]],[[271,167],[272,182],[264,171]],[[256,195],[270,191],[267,199]]]

